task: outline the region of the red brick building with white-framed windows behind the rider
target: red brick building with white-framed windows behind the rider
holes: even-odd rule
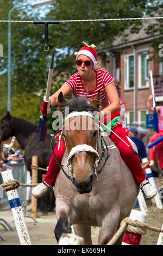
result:
[[[139,33],[126,31],[126,36],[117,38],[111,47],[97,52],[99,65],[105,66],[115,78],[118,94],[127,103],[122,117],[127,126],[136,122],[138,127],[146,128],[147,99],[152,94],[149,70],[153,73],[156,102],[158,105],[163,103],[163,63],[159,63],[158,54],[149,61],[154,51],[152,40],[160,35],[146,34],[148,25],[145,22]]]

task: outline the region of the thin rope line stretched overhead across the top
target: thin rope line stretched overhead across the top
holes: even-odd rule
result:
[[[92,19],[92,20],[60,20],[59,22],[85,22],[85,21],[132,21],[132,20],[161,20],[163,17],[140,17],[140,18],[122,18],[122,19]],[[14,21],[14,20],[0,20],[0,22],[22,22],[33,23],[34,21]],[[45,21],[46,22],[46,21]]]

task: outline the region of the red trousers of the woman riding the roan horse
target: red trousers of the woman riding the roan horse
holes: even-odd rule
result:
[[[126,134],[124,133],[122,126],[117,126],[114,129],[114,132],[118,136],[120,136],[123,139],[123,141],[125,141],[130,147],[132,147],[126,137]],[[133,173],[136,183],[141,184],[141,182],[146,179],[146,175],[143,172],[143,169],[141,167],[139,157],[114,133],[111,132],[110,138],[112,142],[114,142],[117,148],[119,149],[122,159],[127,163],[129,169]],[[59,163],[61,163],[65,150],[66,148],[65,148],[64,142],[62,142],[62,148],[60,145],[60,149],[58,150],[58,144],[57,144],[57,146],[54,149],[55,156],[57,157],[57,160]],[[58,164],[56,164],[54,156],[52,155],[51,160],[49,162],[47,174],[44,178],[45,182],[47,182],[47,184],[49,185],[53,185],[55,182],[55,179],[57,178],[57,174],[59,170],[60,170],[60,167]]]

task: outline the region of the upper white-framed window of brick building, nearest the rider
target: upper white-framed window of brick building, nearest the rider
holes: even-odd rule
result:
[[[125,56],[125,89],[134,88],[134,55]]]

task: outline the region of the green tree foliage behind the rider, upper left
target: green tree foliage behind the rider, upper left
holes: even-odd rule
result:
[[[150,3],[150,5],[149,5]],[[45,17],[39,9],[31,7],[12,11],[11,20],[83,20],[142,17],[150,14],[155,1],[149,0],[58,0],[51,5]],[[1,0],[1,20],[8,20],[12,7],[27,4],[27,1]],[[149,8],[150,7],[150,8]],[[156,6],[154,6],[156,9]],[[49,52],[43,51],[44,26],[33,23],[11,23],[11,114],[39,123],[39,108],[45,95],[49,65],[55,52],[55,68],[52,93],[60,88],[70,75],[76,72],[74,51],[82,47],[82,41],[95,44],[97,50],[109,47],[115,36],[138,21],[110,22],[60,22],[48,26]],[[4,56],[0,59],[0,117],[7,110],[7,68],[8,68],[8,23],[0,22],[0,43]],[[37,96],[40,95],[40,96]],[[52,121],[49,121],[49,129]]]

